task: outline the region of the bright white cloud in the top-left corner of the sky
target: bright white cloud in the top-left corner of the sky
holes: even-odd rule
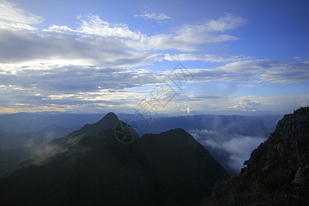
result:
[[[0,28],[36,30],[31,24],[43,22],[41,16],[16,8],[16,5],[5,0],[0,1]]]

